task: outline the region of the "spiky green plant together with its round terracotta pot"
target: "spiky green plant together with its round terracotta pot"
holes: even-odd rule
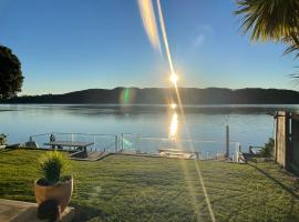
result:
[[[34,183],[34,194],[38,204],[49,200],[58,202],[60,213],[68,206],[72,191],[73,178],[63,175],[70,167],[65,154],[59,151],[48,151],[39,160],[42,178]]]

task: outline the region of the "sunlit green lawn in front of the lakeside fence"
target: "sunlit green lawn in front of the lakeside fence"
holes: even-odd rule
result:
[[[0,198],[34,201],[42,152],[0,151]],[[75,221],[210,221],[196,164],[216,221],[299,221],[298,181],[275,163],[124,155],[71,163]]]

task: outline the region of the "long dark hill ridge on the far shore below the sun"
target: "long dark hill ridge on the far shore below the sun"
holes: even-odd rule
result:
[[[299,92],[278,89],[225,89],[225,88],[179,88],[184,104],[299,104]],[[89,89],[64,94],[23,95],[2,103],[136,103],[164,104],[175,97],[166,88],[115,88]],[[176,102],[176,101],[174,101]]]

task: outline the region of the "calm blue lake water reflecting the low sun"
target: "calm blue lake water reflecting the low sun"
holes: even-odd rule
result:
[[[299,109],[299,105],[199,105],[185,108],[186,128],[177,117],[178,137],[225,141],[225,125],[230,127],[230,140],[243,148],[261,145],[274,135],[274,118],[278,109]],[[167,138],[172,111],[164,105],[42,105],[1,104],[0,133],[9,143],[28,141],[29,135],[45,132],[136,133]]]

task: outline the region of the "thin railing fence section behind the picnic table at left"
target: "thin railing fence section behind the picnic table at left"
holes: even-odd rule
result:
[[[71,141],[71,142],[91,142],[92,145],[87,147],[89,151],[117,151],[117,135],[112,134],[87,134],[87,133],[61,133],[50,132],[43,134],[30,135],[29,141],[34,141],[42,148],[49,148],[44,143],[50,141],[50,137],[54,135],[56,141]],[[75,148],[69,148],[73,150]]]

